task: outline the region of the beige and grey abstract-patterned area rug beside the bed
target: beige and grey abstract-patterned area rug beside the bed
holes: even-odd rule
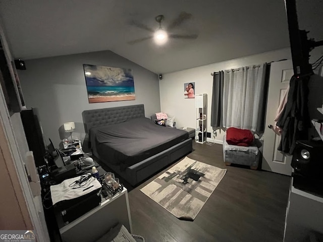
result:
[[[185,157],[140,191],[174,216],[194,220],[226,172]]]

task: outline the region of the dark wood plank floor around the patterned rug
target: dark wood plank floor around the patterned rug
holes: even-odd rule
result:
[[[169,167],[160,171],[140,186],[129,189],[133,233],[148,242],[283,241],[290,177],[225,166],[222,145],[193,143],[194,151],[189,158],[227,168],[221,183],[195,220],[183,221],[140,192]]]

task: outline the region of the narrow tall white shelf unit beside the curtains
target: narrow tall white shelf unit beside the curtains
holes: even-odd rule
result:
[[[195,142],[203,144],[207,136],[207,94],[195,95]]]

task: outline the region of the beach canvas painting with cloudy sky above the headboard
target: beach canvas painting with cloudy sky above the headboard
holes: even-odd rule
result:
[[[135,100],[131,69],[83,65],[89,103]]]

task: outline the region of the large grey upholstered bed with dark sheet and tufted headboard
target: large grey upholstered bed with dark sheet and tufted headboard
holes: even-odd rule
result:
[[[82,112],[92,154],[135,186],[192,151],[183,130],[155,125],[144,105]]]

